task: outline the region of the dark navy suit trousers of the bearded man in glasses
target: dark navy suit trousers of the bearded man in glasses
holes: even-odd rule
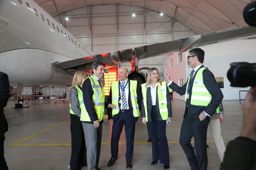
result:
[[[183,119],[182,121],[179,143],[185,152],[189,165],[192,168],[191,170],[207,170],[206,136],[208,124],[208,117],[203,121],[200,121],[199,117],[196,120]],[[193,136],[195,151],[191,145],[191,138]]]

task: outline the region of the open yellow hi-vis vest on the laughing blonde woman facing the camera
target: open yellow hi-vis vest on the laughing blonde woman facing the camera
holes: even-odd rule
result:
[[[147,88],[146,83],[141,85],[142,95],[143,95],[143,104],[145,108],[146,121],[148,122],[148,107],[147,107]],[[168,108],[167,108],[167,99],[166,99],[166,82],[158,83],[157,95],[159,102],[159,111],[162,117],[162,120],[168,119]],[[150,113],[149,113],[150,114]]]

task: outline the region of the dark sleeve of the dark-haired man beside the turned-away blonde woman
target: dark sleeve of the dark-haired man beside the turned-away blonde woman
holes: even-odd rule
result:
[[[82,84],[82,95],[86,111],[88,112],[91,121],[97,121],[97,113],[92,103],[93,90],[90,78],[87,78]]]

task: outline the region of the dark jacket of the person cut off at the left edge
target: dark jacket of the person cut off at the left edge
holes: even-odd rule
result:
[[[0,72],[0,133],[8,131],[8,124],[4,115],[4,107],[7,105],[10,94],[10,85],[7,74]]]

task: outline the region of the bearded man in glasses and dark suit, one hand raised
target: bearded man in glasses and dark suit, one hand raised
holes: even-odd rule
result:
[[[223,98],[213,73],[203,66],[204,56],[205,52],[202,49],[195,48],[189,51],[187,62],[193,70],[182,87],[170,80],[169,73],[164,73],[168,86],[179,95],[185,94],[186,108],[179,143],[192,170],[207,169],[207,127],[210,117],[216,112]],[[190,143],[193,136],[195,151]]]

